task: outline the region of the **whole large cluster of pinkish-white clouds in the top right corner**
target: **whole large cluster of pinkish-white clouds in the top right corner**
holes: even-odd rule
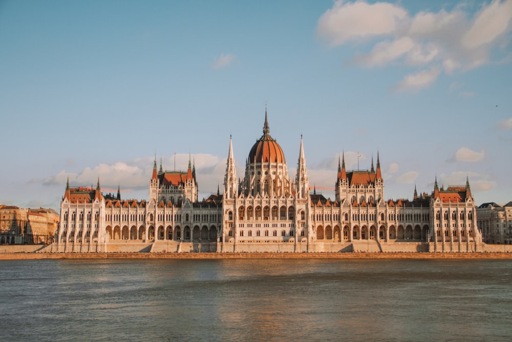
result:
[[[429,70],[413,71],[398,83],[399,91],[422,89],[441,72],[451,75],[493,63],[493,50],[507,50],[512,0],[483,4],[477,13],[460,4],[451,11],[420,11],[412,17],[399,4],[337,1],[318,19],[317,34],[332,47],[370,42],[362,45],[370,52],[351,58],[358,65],[401,63]]]

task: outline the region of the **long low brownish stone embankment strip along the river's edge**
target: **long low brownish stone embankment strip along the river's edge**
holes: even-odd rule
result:
[[[512,259],[512,253],[0,253],[14,259]]]

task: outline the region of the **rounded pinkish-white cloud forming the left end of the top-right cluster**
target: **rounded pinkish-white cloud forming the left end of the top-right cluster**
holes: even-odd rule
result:
[[[319,19],[317,33],[330,46],[394,32],[407,11],[389,3],[339,0]]]

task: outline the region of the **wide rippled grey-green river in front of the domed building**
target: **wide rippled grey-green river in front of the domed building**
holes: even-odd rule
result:
[[[512,340],[512,260],[0,260],[2,341]]]

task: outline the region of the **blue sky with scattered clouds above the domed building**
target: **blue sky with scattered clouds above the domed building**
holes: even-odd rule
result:
[[[72,186],[148,197],[195,160],[201,197],[270,134],[333,197],[338,155],[387,198],[470,178],[512,200],[512,1],[0,1],[0,203]],[[108,192],[108,190],[106,190]]]

